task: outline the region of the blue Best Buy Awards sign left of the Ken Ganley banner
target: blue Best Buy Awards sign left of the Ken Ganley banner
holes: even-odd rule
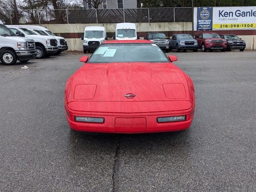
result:
[[[197,29],[200,31],[212,30],[212,7],[197,8]]]

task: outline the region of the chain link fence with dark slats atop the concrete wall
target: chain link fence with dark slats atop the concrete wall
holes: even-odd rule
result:
[[[4,24],[17,24],[14,10],[0,10]],[[191,22],[192,8],[18,10],[19,24]]]

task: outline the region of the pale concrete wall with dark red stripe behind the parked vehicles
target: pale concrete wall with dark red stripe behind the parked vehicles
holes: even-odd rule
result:
[[[116,23],[104,24],[42,24],[58,36],[63,36],[68,43],[68,50],[83,50],[83,41],[80,37],[86,26],[104,26],[109,40],[116,30]],[[164,32],[166,36],[178,33],[192,34],[192,22],[160,22],[160,23],[136,23],[137,34],[143,39],[148,32]],[[212,31],[218,34],[236,34],[246,41],[246,49],[256,50],[256,30],[223,30]],[[194,32],[196,34],[198,32]]]

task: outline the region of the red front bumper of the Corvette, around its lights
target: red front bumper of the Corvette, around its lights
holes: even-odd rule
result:
[[[78,112],[70,110],[65,106],[65,114],[68,120],[70,128],[80,132],[97,132],[97,133],[116,133],[116,134],[138,134],[138,133],[153,133],[153,132],[172,132],[186,130],[192,124],[194,118],[194,106],[189,110],[183,112],[173,112],[170,114],[160,112],[154,114],[99,114],[88,112]],[[167,116],[183,116],[186,115],[185,121],[178,122],[157,122],[158,117]],[[75,116],[86,116],[94,118],[104,118],[103,123],[91,123],[91,122],[77,122]],[[140,126],[134,127],[132,124],[120,125],[117,124],[117,119],[144,119],[144,128]],[[124,127],[118,127],[124,126]]]

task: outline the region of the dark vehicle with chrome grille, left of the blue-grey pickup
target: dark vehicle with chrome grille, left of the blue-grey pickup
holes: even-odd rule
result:
[[[144,37],[146,40],[150,40],[158,45],[161,49],[165,50],[165,52],[169,52],[169,40],[166,38],[164,33],[159,32],[150,32]]]

